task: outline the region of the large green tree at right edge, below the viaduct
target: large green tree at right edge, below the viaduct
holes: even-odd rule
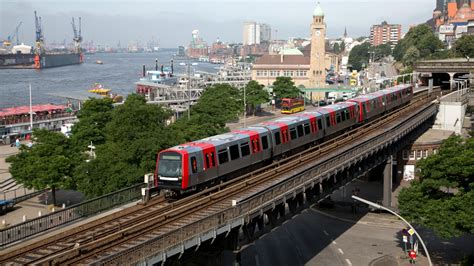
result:
[[[474,233],[474,138],[450,137],[417,168],[420,179],[400,192],[401,215],[446,238]]]

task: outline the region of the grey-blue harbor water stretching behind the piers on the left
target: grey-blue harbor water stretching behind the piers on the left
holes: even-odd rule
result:
[[[100,83],[113,93],[128,95],[135,92],[135,82],[142,75],[142,66],[148,70],[158,65],[170,65],[175,50],[157,53],[97,53],[85,54],[81,65],[63,66],[42,70],[1,69],[0,70],[0,108],[29,104],[29,84],[32,86],[33,104],[65,104],[64,98],[50,94],[71,95],[84,93],[94,83]],[[96,64],[102,61],[103,64]],[[186,73],[180,61],[174,62],[175,73]],[[201,63],[193,66],[196,71],[217,72],[219,65]]]

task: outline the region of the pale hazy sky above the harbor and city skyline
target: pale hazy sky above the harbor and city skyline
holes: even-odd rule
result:
[[[370,26],[386,20],[410,25],[427,21],[435,0],[320,0],[327,37],[368,36]],[[244,21],[266,23],[272,38],[309,37],[317,1],[309,0],[0,0],[0,40],[19,30],[20,42],[33,44],[34,13],[42,17],[47,43],[70,42],[71,18],[82,17],[84,41],[122,47],[130,41],[158,40],[160,47],[188,45],[191,32],[200,31],[209,43],[242,42]],[[77,20],[76,20],[77,23]],[[277,30],[277,32],[275,31]]]

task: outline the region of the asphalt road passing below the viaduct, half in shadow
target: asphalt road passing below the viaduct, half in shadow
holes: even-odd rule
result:
[[[241,265],[368,265],[403,249],[395,218],[362,217],[357,223],[310,208],[241,251]],[[372,221],[371,221],[372,220]],[[408,261],[407,261],[408,262]]]

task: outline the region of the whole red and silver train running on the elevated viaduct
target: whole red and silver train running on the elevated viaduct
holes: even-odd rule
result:
[[[184,193],[291,154],[406,104],[411,85],[362,95],[161,151],[155,186]]]

